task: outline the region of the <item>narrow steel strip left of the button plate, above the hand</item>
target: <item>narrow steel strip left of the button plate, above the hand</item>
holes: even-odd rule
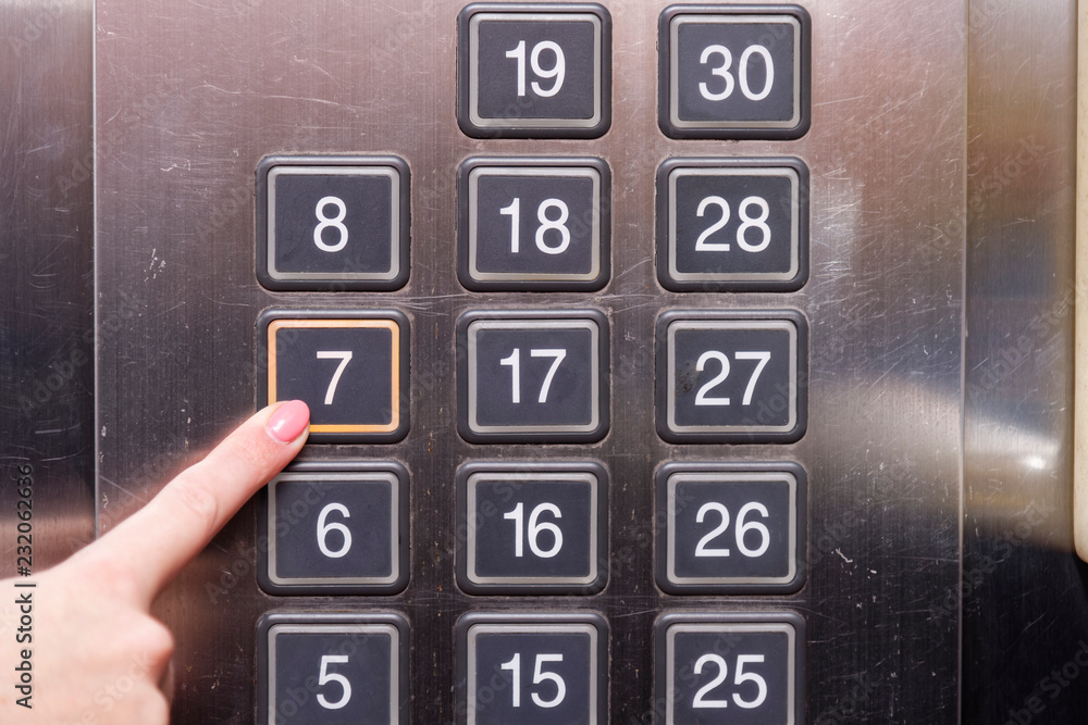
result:
[[[0,0],[0,578],[26,553],[20,466],[34,482],[32,571],[95,534],[92,10]]]

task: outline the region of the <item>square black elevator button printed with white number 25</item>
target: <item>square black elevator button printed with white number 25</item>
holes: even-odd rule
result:
[[[656,625],[665,725],[805,722],[804,620],[793,612],[667,614]]]

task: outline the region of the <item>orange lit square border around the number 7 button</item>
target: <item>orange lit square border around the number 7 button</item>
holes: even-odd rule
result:
[[[383,311],[368,312],[367,317],[353,313],[353,316],[335,316],[337,313],[317,311],[274,311],[270,310],[261,315],[261,347],[268,354],[268,375],[265,387],[265,400],[259,401],[264,404],[276,402],[276,334],[283,329],[387,329],[391,339],[390,358],[390,405],[391,412],[388,423],[379,424],[344,424],[344,423],[313,423],[310,424],[311,440],[317,442],[351,442],[358,440],[386,442],[399,440],[407,434],[407,411],[401,411],[401,399],[404,391],[401,384],[407,379],[407,342],[408,321],[403,313]],[[344,313],[339,313],[344,314]],[[404,415],[401,413],[405,413]],[[314,435],[317,434],[317,435]],[[364,436],[364,438],[359,438]]]

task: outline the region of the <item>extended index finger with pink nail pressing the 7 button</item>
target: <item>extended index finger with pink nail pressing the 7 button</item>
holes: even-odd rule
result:
[[[306,441],[309,420],[309,409],[298,400],[259,411],[146,507],[84,549],[78,561],[106,560],[111,568],[120,568],[139,602],[150,605],[238,509],[295,458]]]

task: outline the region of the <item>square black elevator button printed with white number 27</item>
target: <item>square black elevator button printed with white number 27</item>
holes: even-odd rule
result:
[[[657,433],[670,442],[792,442],[806,425],[807,325],[792,311],[657,321]]]

